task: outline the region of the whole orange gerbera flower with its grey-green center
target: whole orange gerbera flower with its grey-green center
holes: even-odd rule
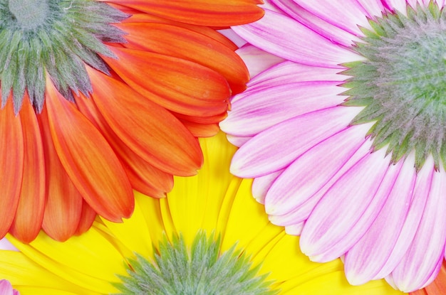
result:
[[[0,2],[0,237],[66,240],[196,173],[249,78],[214,28],[262,14],[211,2]]]

